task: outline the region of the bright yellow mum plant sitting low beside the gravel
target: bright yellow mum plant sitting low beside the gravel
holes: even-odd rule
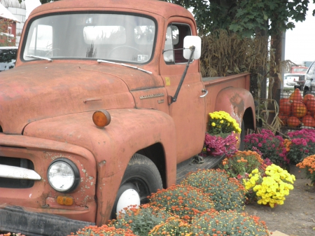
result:
[[[263,174],[258,169],[254,169],[248,175],[248,179],[243,181],[246,190],[255,193],[258,204],[274,207],[276,204],[283,204],[290,190],[293,190],[295,176],[289,174],[286,169],[272,164],[266,167]]]

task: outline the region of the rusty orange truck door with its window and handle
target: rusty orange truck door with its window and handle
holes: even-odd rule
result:
[[[181,20],[179,20],[181,19]],[[187,61],[183,57],[183,39],[196,35],[193,22],[174,18],[167,24],[165,48],[160,60],[160,73],[169,96],[174,96]],[[182,162],[202,151],[206,131],[204,85],[200,62],[190,64],[177,101],[169,104],[169,113],[176,125],[177,162]]]

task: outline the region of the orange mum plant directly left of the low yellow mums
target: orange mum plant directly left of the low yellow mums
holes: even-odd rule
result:
[[[200,188],[214,201],[214,208],[218,211],[228,209],[244,209],[246,190],[234,178],[230,178],[222,169],[199,169],[190,172],[182,185]]]

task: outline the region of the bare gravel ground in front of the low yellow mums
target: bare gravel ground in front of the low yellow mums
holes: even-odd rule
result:
[[[274,208],[257,203],[248,204],[245,211],[259,216],[271,232],[278,230],[290,236],[315,235],[315,187],[309,186],[309,179],[295,174],[294,189],[283,205]]]

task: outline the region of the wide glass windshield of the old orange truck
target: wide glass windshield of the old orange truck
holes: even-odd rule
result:
[[[155,22],[136,15],[73,13],[31,22],[23,59],[101,59],[142,64],[151,59]]]

